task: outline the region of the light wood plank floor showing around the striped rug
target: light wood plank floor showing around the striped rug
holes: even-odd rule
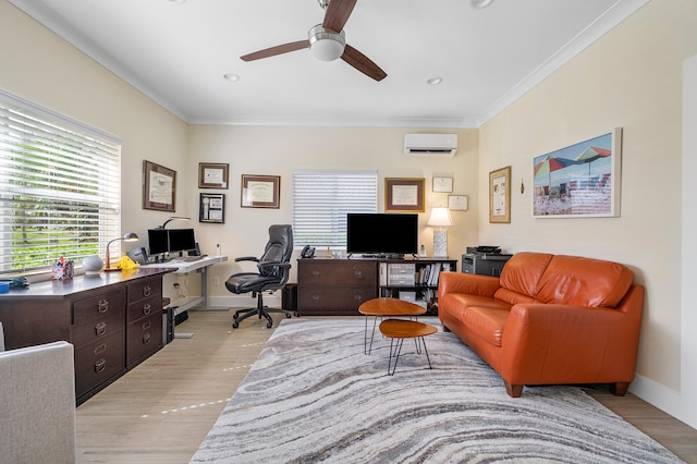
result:
[[[274,320],[282,318],[273,315]],[[164,349],[77,407],[78,463],[188,463],[273,332],[230,312],[189,312]],[[276,328],[276,325],[274,325]],[[598,401],[697,464],[697,430],[627,394]]]

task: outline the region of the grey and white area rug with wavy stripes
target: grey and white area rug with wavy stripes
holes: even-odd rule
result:
[[[676,463],[665,448],[576,387],[501,378],[439,327],[424,351],[390,341],[364,354],[364,319],[285,319],[193,463]]]

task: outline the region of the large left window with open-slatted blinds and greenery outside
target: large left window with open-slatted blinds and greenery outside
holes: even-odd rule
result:
[[[103,256],[120,203],[120,141],[0,90],[0,272]]]

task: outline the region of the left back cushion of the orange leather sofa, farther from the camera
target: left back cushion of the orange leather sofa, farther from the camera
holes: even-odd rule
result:
[[[546,253],[516,253],[503,266],[500,285],[513,293],[536,297],[538,283],[552,256]],[[499,298],[499,295],[497,295],[497,298]],[[510,293],[506,296],[502,293],[500,300],[504,300],[510,304],[524,303],[522,301],[513,301]]]

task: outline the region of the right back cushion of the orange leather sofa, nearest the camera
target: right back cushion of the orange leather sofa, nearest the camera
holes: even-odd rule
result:
[[[615,307],[633,280],[634,272],[619,262],[557,255],[539,281],[537,300],[574,306]]]

